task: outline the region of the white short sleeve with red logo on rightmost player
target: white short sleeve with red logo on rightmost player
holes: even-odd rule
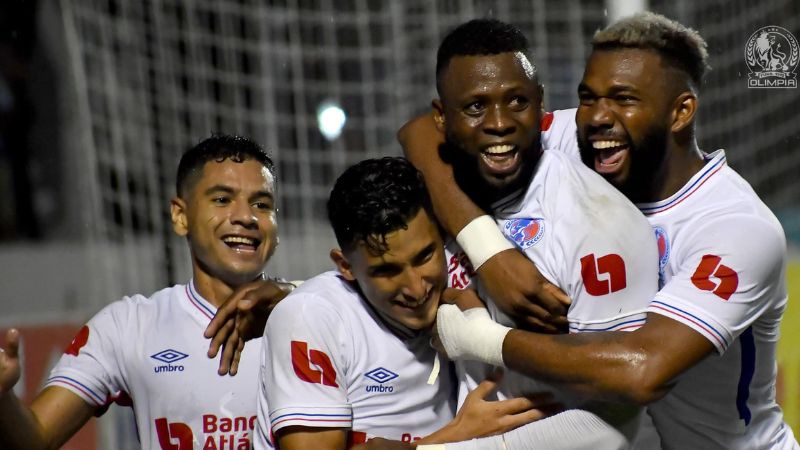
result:
[[[682,264],[650,304],[705,336],[721,354],[770,308],[786,301],[786,241],[757,216],[727,215],[685,238]]]

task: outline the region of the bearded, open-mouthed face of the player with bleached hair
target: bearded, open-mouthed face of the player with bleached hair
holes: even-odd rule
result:
[[[595,50],[578,88],[581,158],[623,193],[646,189],[668,155],[675,85],[656,52]]]

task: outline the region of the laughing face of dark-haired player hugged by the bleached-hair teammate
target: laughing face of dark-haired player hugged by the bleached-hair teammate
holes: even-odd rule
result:
[[[455,56],[440,77],[434,114],[466,168],[494,196],[528,182],[539,155],[541,88],[521,52]]]

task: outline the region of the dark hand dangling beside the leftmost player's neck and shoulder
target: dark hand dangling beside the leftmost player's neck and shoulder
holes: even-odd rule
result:
[[[240,286],[219,307],[205,333],[211,338],[208,357],[222,349],[217,373],[236,375],[245,341],[264,334],[267,318],[284,297],[294,289],[290,283],[258,280]]]

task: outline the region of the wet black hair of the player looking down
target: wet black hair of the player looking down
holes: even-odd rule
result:
[[[422,174],[396,157],[351,166],[336,180],[328,199],[328,219],[345,251],[364,242],[371,251],[384,253],[386,235],[407,229],[420,209],[433,217]]]

